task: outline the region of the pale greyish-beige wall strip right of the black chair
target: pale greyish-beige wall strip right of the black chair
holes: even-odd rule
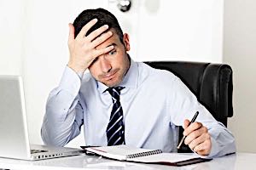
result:
[[[229,127],[239,151],[256,153],[256,1],[226,0],[224,6],[224,62],[234,71]]]

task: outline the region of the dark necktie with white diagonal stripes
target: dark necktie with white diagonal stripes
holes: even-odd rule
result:
[[[120,91],[124,87],[108,88],[108,93],[112,96],[113,108],[106,130],[108,146],[125,144],[125,125],[123,122],[123,110],[120,104]]]

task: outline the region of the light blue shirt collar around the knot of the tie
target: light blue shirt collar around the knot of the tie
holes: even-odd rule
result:
[[[137,82],[138,82],[137,79],[138,79],[137,63],[131,59],[130,68],[128,69],[123,81],[119,84],[119,86],[125,87],[125,88],[137,88]],[[96,86],[101,94],[104,93],[105,90],[108,88],[108,86],[98,81],[96,81]]]

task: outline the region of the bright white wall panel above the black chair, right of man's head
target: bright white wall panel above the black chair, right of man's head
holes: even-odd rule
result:
[[[137,60],[222,62],[224,0],[140,0],[121,13],[108,8],[132,34]],[[132,55],[131,55],[132,56]]]

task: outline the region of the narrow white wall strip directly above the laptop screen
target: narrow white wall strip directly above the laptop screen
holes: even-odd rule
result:
[[[20,75],[21,1],[0,1],[0,74]]]

